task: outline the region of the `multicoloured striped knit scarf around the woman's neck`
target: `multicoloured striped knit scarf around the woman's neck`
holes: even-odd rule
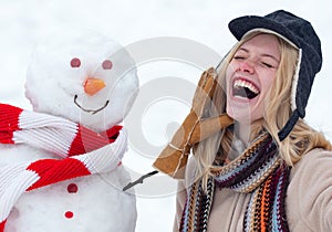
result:
[[[251,194],[243,231],[289,231],[284,199],[290,168],[281,161],[269,134],[261,135],[240,157],[211,172],[206,192],[201,181],[190,187],[179,231],[207,231],[216,187]]]

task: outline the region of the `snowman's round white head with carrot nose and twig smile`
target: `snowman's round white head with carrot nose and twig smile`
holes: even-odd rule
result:
[[[133,59],[95,32],[72,32],[42,42],[28,68],[25,95],[33,109],[95,131],[121,123],[138,93]]]

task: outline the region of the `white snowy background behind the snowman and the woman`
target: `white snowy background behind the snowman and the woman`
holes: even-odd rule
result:
[[[201,51],[195,54],[195,49],[204,45],[209,48],[208,53],[214,51],[222,56],[235,43],[227,28],[231,19],[245,14],[263,15],[277,9],[308,19],[321,38],[323,67],[317,76],[305,119],[331,139],[332,77],[329,68],[332,64],[332,15],[325,0],[0,0],[0,102],[31,109],[24,97],[27,67],[37,43],[54,30],[63,30],[64,33],[71,28],[94,30],[124,46],[139,46],[143,53],[151,52],[143,43],[148,39],[157,38],[158,42],[160,36],[180,38],[175,46],[180,46],[183,41],[191,41],[194,45],[189,46],[194,50],[194,56],[201,55]],[[124,159],[134,179],[153,170],[151,165],[158,149],[165,146],[188,110],[193,86],[200,72],[216,65],[218,60],[215,56],[211,63],[197,64],[186,59],[158,60],[157,56],[155,54],[154,60],[138,65],[142,94],[147,98],[151,96],[147,102],[138,99],[134,106],[142,113],[139,124],[131,125],[129,119],[125,120],[129,124],[129,133],[142,135],[141,139],[145,143],[145,147],[139,147],[142,143],[132,139]],[[201,56],[201,60],[206,59],[206,54]],[[157,85],[154,81],[162,82],[167,77],[168,85],[155,89]],[[170,82],[176,80],[179,82]],[[168,87],[175,89],[170,95],[166,91]],[[157,176],[137,187],[136,192],[136,231],[172,231],[175,182]]]

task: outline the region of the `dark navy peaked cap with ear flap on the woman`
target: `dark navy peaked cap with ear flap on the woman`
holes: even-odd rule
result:
[[[247,15],[229,22],[229,30],[237,40],[252,30],[268,30],[283,40],[293,43],[299,49],[299,73],[293,77],[292,115],[279,131],[279,139],[283,140],[292,130],[299,117],[305,116],[305,106],[315,74],[322,66],[321,42],[312,25],[307,20],[290,12],[278,10],[264,17]]]

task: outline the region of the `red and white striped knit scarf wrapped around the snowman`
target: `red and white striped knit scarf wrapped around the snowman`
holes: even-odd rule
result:
[[[27,144],[52,154],[32,162],[1,164],[0,150],[0,232],[24,191],[116,168],[125,148],[111,143],[123,140],[121,128],[96,134],[61,117],[0,104],[0,144]]]

